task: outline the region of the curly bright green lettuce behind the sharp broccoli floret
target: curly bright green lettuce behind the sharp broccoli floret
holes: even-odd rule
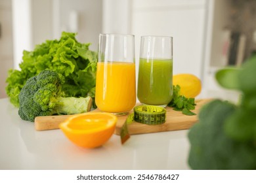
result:
[[[90,44],[75,39],[75,33],[63,32],[60,40],[45,41],[32,52],[24,50],[20,71],[11,69],[6,92],[11,103],[18,107],[18,94],[26,81],[45,69],[64,76],[62,85],[66,97],[95,97],[97,54],[89,50]]]

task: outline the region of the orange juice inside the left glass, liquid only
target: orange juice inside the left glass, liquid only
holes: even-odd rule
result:
[[[104,112],[128,112],[136,103],[135,63],[98,62],[95,102]]]

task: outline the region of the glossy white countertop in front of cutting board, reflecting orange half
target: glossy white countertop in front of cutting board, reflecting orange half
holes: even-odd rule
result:
[[[113,135],[85,149],[60,129],[35,131],[9,99],[0,99],[0,116],[0,169],[189,169],[188,130],[131,135],[123,145]]]

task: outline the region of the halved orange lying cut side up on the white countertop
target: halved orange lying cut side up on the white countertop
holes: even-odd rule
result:
[[[59,125],[70,141],[84,148],[102,146],[113,135],[117,117],[108,112],[75,114]]]

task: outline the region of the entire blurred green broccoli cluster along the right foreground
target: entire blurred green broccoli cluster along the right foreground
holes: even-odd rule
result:
[[[235,70],[222,69],[216,78],[242,93],[240,103],[211,101],[188,133],[192,169],[256,169],[256,56]]]

